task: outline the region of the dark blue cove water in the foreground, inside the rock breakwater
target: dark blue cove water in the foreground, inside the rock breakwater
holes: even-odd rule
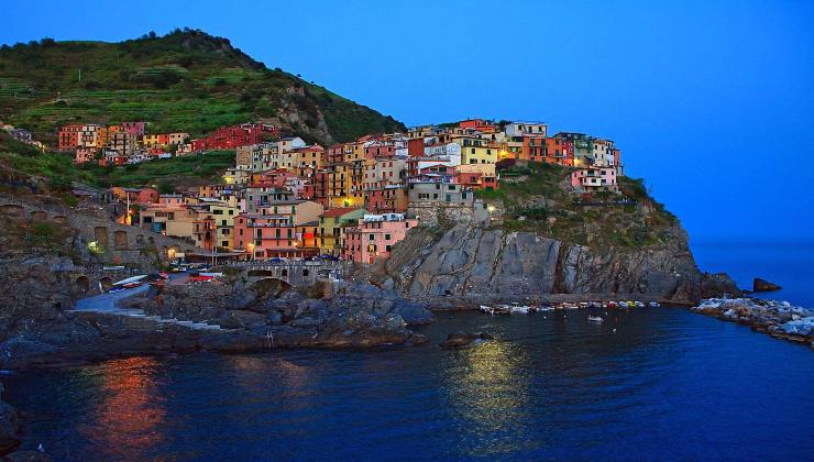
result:
[[[586,315],[442,315],[417,348],[134,358],[3,383],[26,447],[58,460],[811,460],[807,346],[680,308]],[[440,350],[454,330],[501,340]]]

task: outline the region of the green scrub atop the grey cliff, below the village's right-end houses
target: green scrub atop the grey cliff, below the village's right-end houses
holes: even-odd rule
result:
[[[678,219],[648,193],[644,179],[619,177],[622,195],[581,200],[568,190],[570,168],[529,163],[501,170],[499,189],[479,197],[504,208],[499,227],[591,246],[644,248],[673,242]]]

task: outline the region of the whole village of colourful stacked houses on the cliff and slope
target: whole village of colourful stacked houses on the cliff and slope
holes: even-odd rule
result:
[[[148,125],[64,125],[55,147],[70,153],[75,164],[100,165],[234,151],[235,165],[218,184],[173,194],[155,187],[112,186],[108,191],[109,200],[127,205],[120,223],[184,239],[220,261],[320,257],[372,264],[387,258],[410,228],[435,224],[439,215],[458,222],[495,220],[494,208],[480,196],[498,188],[503,167],[529,162],[566,166],[574,195],[618,193],[617,176],[623,175],[613,141],[583,133],[549,135],[541,122],[471,119],[328,147],[282,136],[278,128],[261,123],[221,128],[200,139],[152,134]],[[45,148],[25,130],[2,129]]]

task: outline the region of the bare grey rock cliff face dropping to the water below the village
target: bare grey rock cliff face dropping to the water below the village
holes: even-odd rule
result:
[[[680,228],[669,244],[594,249],[531,232],[459,224],[440,239],[417,229],[394,250],[387,274],[410,298],[510,300],[552,294],[642,295],[694,301],[735,293],[728,277],[702,274]]]

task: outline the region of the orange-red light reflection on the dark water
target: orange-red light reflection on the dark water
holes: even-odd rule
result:
[[[152,358],[130,358],[98,370],[101,400],[81,431],[106,455],[144,454],[164,441],[167,411],[155,380],[157,366]]]

